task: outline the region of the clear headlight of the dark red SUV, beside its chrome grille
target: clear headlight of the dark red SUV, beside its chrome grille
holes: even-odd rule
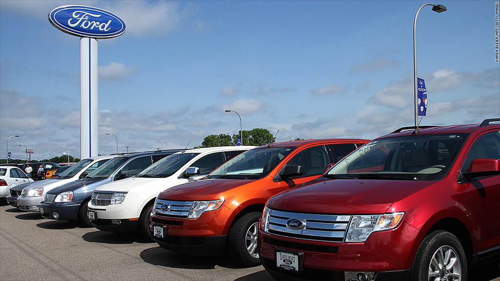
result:
[[[404,212],[353,215],[347,227],[345,242],[364,242],[372,232],[397,227],[403,216]]]

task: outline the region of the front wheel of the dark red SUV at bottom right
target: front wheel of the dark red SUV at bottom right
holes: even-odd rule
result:
[[[463,247],[455,235],[443,230],[434,231],[423,239],[413,262],[412,280],[434,279],[467,280]]]

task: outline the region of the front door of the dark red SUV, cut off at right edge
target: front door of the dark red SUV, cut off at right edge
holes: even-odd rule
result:
[[[489,131],[474,139],[461,165],[461,172],[468,172],[470,163],[477,158],[500,159],[500,131]],[[498,246],[500,224],[492,221],[500,221],[500,211],[498,211],[500,175],[472,178],[463,185],[466,187],[470,202],[467,212],[473,215],[472,236],[480,243],[478,250]]]

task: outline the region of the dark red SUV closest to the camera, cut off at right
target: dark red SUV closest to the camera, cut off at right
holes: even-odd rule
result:
[[[500,257],[500,125],[401,128],[269,198],[258,253],[275,279],[467,279]]]

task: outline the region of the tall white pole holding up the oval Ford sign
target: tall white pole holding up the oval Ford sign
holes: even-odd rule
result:
[[[98,155],[97,40],[80,38],[80,158]]]

